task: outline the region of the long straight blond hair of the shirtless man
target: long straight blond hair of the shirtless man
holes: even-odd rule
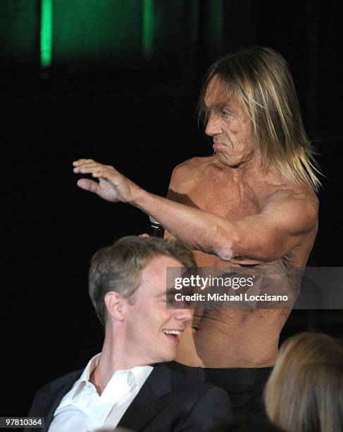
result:
[[[199,99],[199,117],[204,116],[205,124],[204,97],[214,77],[218,104],[235,100],[249,114],[263,167],[318,191],[320,171],[282,55],[270,48],[251,47],[218,59],[208,70]]]

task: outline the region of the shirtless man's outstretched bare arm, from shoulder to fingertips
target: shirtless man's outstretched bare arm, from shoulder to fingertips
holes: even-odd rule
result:
[[[135,205],[155,217],[168,232],[189,248],[211,253],[222,260],[243,257],[270,261],[287,255],[304,235],[316,229],[318,208],[314,200],[280,191],[266,199],[260,214],[230,221],[197,208],[175,203],[144,191],[109,165],[93,160],[74,162],[80,188],[113,203]]]

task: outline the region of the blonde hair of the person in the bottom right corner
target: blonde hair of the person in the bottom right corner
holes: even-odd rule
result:
[[[343,340],[301,332],[281,347],[266,411],[287,432],[343,431]]]

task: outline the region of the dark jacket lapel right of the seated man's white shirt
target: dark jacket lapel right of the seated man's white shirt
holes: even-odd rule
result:
[[[161,396],[172,391],[172,372],[164,364],[154,367],[118,426],[139,431],[166,406]]]

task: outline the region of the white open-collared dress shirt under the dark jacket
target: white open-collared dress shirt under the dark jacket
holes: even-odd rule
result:
[[[107,427],[113,430],[153,370],[152,366],[137,366],[116,371],[99,396],[89,377],[100,356],[101,353],[96,354],[89,360],[73,388],[63,397],[49,432],[93,432]]]

